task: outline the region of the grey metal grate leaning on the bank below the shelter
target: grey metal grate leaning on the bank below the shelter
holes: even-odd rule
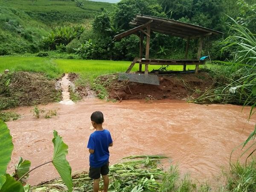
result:
[[[118,76],[119,81],[129,80],[137,83],[159,85],[159,79],[156,75],[145,75],[140,73],[118,73]]]

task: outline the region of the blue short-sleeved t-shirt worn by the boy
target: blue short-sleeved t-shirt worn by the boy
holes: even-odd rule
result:
[[[89,138],[87,148],[93,149],[94,153],[90,154],[90,166],[93,168],[102,167],[108,163],[109,144],[113,143],[111,134],[108,130],[94,131]]]

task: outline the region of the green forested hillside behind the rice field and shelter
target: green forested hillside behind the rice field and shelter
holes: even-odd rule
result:
[[[49,51],[58,51],[86,59],[132,60],[139,53],[139,38],[131,35],[114,42],[113,37],[131,29],[128,23],[140,13],[223,32],[223,36],[206,39],[203,54],[209,52],[213,59],[224,60],[230,57],[230,50],[221,54],[219,43],[230,33],[230,17],[255,32],[253,3],[255,0],[1,1],[0,55],[39,51],[51,55]],[[196,57],[197,45],[197,40],[192,40],[189,58]],[[183,58],[184,49],[181,38],[159,33],[151,36],[151,58]]]

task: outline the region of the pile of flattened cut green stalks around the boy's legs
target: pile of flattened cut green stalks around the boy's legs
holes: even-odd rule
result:
[[[163,156],[137,156],[138,159],[124,160],[121,163],[109,167],[109,191],[110,192],[155,192],[158,191],[160,183],[157,180],[163,176],[163,171],[157,168],[157,162],[166,158]],[[93,180],[88,177],[87,172],[73,176],[73,191],[92,192]],[[100,182],[102,189],[102,182]],[[50,190],[65,191],[67,187],[61,179],[56,179],[33,186],[32,192],[47,192]]]

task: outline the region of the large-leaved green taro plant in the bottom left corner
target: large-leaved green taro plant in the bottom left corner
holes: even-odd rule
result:
[[[29,173],[33,170],[47,163],[53,164],[67,186],[68,192],[72,192],[73,183],[71,167],[66,160],[68,146],[63,142],[62,137],[60,137],[55,130],[53,131],[52,143],[54,145],[54,153],[51,161],[29,170],[30,161],[23,161],[20,157],[14,175],[9,175],[6,173],[6,169],[11,160],[13,150],[12,136],[10,135],[10,130],[6,123],[0,120],[0,192],[28,192],[30,186],[23,186],[21,183],[22,179],[28,177]]]

